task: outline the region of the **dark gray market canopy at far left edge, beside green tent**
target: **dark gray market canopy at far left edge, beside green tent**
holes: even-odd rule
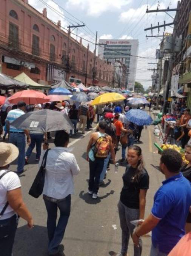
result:
[[[0,73],[0,89],[24,89],[26,87],[28,87],[26,83],[19,82],[11,77],[8,77],[8,75]]]

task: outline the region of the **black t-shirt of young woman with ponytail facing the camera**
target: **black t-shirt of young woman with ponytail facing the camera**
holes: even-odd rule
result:
[[[128,165],[123,174],[123,188],[120,195],[120,201],[125,206],[132,209],[139,209],[139,192],[140,189],[149,188],[149,175],[145,169],[139,177],[139,181],[134,181],[136,168]]]

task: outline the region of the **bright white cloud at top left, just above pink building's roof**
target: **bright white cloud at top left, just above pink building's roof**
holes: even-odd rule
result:
[[[67,20],[65,20],[63,10],[60,9],[60,7],[51,0],[48,0],[46,2],[46,4],[49,5],[50,7],[46,6],[45,4],[41,3],[38,0],[28,0],[28,3],[29,5],[32,5],[35,9],[37,9],[40,13],[42,13],[43,8],[46,8],[47,16],[49,19],[51,19],[55,23],[57,23],[58,20],[61,20],[62,27],[68,26],[69,23]]]

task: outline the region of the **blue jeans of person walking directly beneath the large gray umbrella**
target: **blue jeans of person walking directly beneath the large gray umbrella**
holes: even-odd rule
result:
[[[36,149],[37,149],[36,159],[40,159],[43,134],[30,133],[30,136],[31,136],[31,144],[29,145],[26,151],[26,157],[30,157],[36,144]]]

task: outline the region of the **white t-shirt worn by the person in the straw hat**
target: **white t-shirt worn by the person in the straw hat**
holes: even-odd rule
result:
[[[0,176],[3,173],[5,173],[5,171],[7,170],[0,171]],[[6,173],[0,179],[0,212],[3,210],[3,207],[7,202],[7,191],[20,188],[20,187],[21,187],[20,179],[18,178],[17,174],[12,171],[10,171],[9,173]],[[0,220],[10,218],[14,214],[15,214],[14,210],[11,208],[11,206],[8,205],[7,209],[5,210]]]

